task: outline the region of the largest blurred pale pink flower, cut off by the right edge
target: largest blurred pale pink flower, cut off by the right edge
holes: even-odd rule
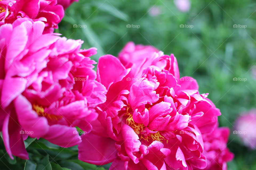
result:
[[[243,143],[251,149],[256,149],[256,109],[244,112],[235,121],[235,130],[233,134],[237,134]]]

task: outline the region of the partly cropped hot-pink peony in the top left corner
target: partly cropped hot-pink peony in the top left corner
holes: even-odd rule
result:
[[[52,33],[63,16],[63,7],[57,5],[57,0],[0,1],[0,25],[11,24],[18,18],[31,18],[45,23],[44,33]]]

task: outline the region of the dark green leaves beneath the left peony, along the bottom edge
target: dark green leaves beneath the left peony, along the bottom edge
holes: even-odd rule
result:
[[[29,145],[27,144],[29,143]],[[4,148],[3,141],[0,141],[1,148]],[[77,146],[62,148],[45,139],[25,140],[29,160],[23,160],[14,156],[12,160],[5,150],[0,149],[1,170],[105,170],[104,167],[88,164],[78,160]],[[110,167],[107,166],[108,169]]]

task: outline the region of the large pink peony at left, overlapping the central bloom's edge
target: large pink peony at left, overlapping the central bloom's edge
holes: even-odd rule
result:
[[[106,88],[95,81],[95,48],[81,40],[42,34],[41,21],[20,18],[0,27],[0,128],[6,151],[28,159],[23,139],[44,138],[61,147],[81,142],[106,101]]]

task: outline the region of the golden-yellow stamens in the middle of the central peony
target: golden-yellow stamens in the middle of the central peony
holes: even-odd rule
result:
[[[126,124],[130,126],[137,135],[140,135],[140,139],[144,139],[149,141],[152,139],[153,141],[162,142],[166,140],[160,133],[157,131],[156,133],[150,133],[149,135],[145,133],[145,125],[141,123],[134,122],[133,115],[128,112],[129,107],[127,107],[126,115],[128,116],[126,119]],[[143,133],[142,133],[143,132]]]

